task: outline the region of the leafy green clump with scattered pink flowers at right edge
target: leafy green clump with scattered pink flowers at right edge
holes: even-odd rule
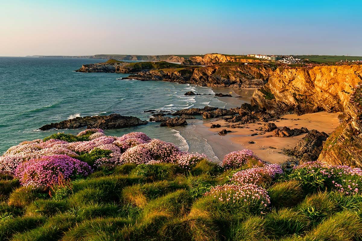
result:
[[[294,167],[292,178],[302,179],[321,188],[327,186],[344,194],[358,193],[362,185],[362,169],[346,165],[332,165],[320,161],[306,162]],[[312,179],[312,180],[310,180]]]

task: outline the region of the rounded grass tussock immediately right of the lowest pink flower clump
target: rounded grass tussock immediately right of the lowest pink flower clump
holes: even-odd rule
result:
[[[268,190],[270,202],[274,207],[292,207],[304,197],[303,189],[296,180],[278,182]]]

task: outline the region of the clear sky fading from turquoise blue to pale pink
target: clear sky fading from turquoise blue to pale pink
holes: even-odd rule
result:
[[[0,56],[362,56],[361,0],[0,0]]]

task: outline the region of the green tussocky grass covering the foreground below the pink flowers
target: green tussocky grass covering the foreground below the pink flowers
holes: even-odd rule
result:
[[[54,187],[51,196],[49,189],[19,187],[6,177],[0,240],[361,240],[362,195],[331,191],[300,169],[269,186],[270,209],[262,213],[204,195],[250,167],[226,171],[205,160],[188,171],[124,164],[97,169],[64,190]]]

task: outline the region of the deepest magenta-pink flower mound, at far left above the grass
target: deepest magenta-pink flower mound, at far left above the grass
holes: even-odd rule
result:
[[[43,188],[57,183],[59,177],[85,177],[90,173],[92,168],[85,162],[67,155],[52,155],[19,164],[15,170],[15,177],[19,178],[24,186]]]

